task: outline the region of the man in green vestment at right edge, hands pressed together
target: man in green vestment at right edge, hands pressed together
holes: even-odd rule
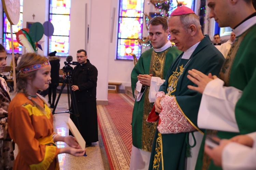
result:
[[[212,76],[191,70],[188,78],[197,86],[188,88],[203,94],[198,125],[209,129],[205,135],[229,139],[256,130],[256,11],[252,0],[207,0],[207,3],[210,7],[209,17],[214,18],[219,27],[231,27],[236,39],[220,73],[212,73]],[[232,149],[233,152],[237,151],[236,148]],[[196,169],[221,169],[203,153],[204,140]],[[228,158],[223,157],[222,160]],[[222,167],[228,169],[225,166],[223,161]]]

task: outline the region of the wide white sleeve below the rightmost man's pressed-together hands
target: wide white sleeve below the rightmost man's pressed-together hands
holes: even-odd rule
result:
[[[221,79],[210,81],[200,103],[197,119],[199,128],[239,132],[234,110],[241,96],[241,90],[224,86]]]

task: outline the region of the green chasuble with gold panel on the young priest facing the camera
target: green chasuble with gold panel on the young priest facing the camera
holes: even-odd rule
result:
[[[131,72],[131,88],[134,96],[137,76],[139,74],[153,74],[153,77],[164,79],[174,59],[181,53],[172,46],[162,52],[155,52],[153,48],[143,52]],[[136,148],[151,152],[152,141],[156,130],[156,123],[146,122],[154,103],[150,103],[147,86],[140,101],[135,101],[132,112],[132,145]]]

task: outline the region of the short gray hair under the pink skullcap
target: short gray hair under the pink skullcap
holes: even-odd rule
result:
[[[201,30],[200,21],[196,14],[192,13],[192,14],[185,14],[185,15],[179,15],[179,16],[185,30],[188,29],[191,24],[195,25],[197,30]],[[172,17],[175,17],[175,16],[170,16],[167,19],[167,21],[169,22]]]

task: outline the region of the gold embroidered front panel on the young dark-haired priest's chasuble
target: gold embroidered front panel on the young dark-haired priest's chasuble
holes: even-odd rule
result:
[[[152,51],[149,74],[153,74],[154,77],[164,79],[163,70],[165,67],[166,54],[169,49],[160,53],[156,53],[154,50]],[[147,88],[145,89],[144,109],[142,118],[142,150],[147,152],[151,152],[152,150],[154,134],[157,127],[157,122],[151,123],[146,121],[154,105],[154,103],[150,103],[149,101],[149,92],[150,88],[149,86],[147,86]]]

